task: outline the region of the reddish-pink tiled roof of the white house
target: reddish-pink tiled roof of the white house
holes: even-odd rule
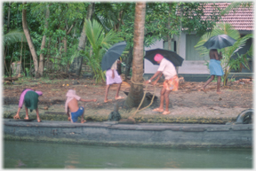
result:
[[[224,10],[231,3],[215,3],[220,10]],[[204,6],[204,15],[209,16],[213,9],[217,7],[213,4],[206,4]],[[234,12],[233,9],[229,13],[221,17],[220,22],[225,22],[231,24],[236,30],[253,30],[253,3],[250,7],[240,6],[236,8]],[[219,22],[218,22],[219,23]]]

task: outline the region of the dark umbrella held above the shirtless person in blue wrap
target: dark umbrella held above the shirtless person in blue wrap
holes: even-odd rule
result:
[[[204,43],[204,47],[209,49],[222,49],[228,46],[233,46],[236,43],[236,40],[228,35],[215,35],[212,36],[206,43]]]

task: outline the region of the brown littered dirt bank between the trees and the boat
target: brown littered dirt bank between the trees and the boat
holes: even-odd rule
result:
[[[123,82],[119,95],[126,97],[124,91],[129,92],[131,81]],[[222,94],[216,93],[217,82],[211,82],[206,87],[206,93],[202,91],[204,82],[180,82],[179,90],[170,94],[170,116],[197,115],[212,117],[212,115],[236,114],[253,106],[253,83],[246,79],[236,82],[228,82],[227,86],[220,87]],[[68,89],[76,89],[76,94],[84,99],[97,98],[96,102],[81,103],[85,110],[92,113],[105,113],[108,116],[109,112],[113,111],[116,102],[124,104],[124,100],[115,100],[116,85],[110,86],[108,99],[112,102],[104,103],[105,83],[95,84],[92,79],[79,80],[46,80],[46,79],[26,79],[22,78],[13,83],[4,83],[3,102],[4,106],[16,106],[19,104],[20,93],[23,89],[35,89],[43,91],[43,96],[39,97],[39,110],[47,111],[54,108],[59,112],[64,111],[66,101],[66,93]],[[153,108],[159,105],[160,90],[163,87],[162,82],[156,84],[156,102],[149,106],[141,114],[152,114]],[[144,91],[154,93],[154,86],[149,85]],[[16,106],[17,107],[17,106]],[[120,106],[122,108],[122,105]],[[18,108],[18,107],[17,107]],[[17,108],[15,109],[17,111]],[[24,110],[25,111],[25,110]],[[53,109],[52,109],[53,111]],[[95,112],[96,111],[96,112]],[[40,112],[42,113],[42,112]],[[153,113],[154,114],[154,113]],[[152,117],[155,117],[152,115]],[[234,116],[235,117],[235,116]]]

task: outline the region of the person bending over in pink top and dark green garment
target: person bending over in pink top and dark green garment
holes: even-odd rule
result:
[[[36,118],[38,122],[41,122],[38,111],[38,97],[42,96],[42,91],[34,91],[33,89],[24,89],[20,94],[20,102],[19,109],[13,119],[20,119],[20,109],[22,108],[23,103],[25,102],[25,111],[26,116],[24,120],[29,120],[28,118],[28,109],[30,109],[30,113],[35,109],[36,110]]]

